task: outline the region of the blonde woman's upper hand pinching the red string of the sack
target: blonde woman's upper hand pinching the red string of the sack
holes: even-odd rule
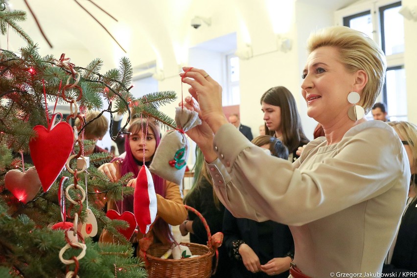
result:
[[[188,92],[200,107],[200,118],[207,122],[213,133],[227,123],[222,107],[222,87],[204,70],[184,67],[182,81],[191,86]]]

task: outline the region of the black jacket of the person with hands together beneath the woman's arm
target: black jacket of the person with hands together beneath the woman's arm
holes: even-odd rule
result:
[[[294,254],[294,240],[288,226],[279,224],[277,222],[272,223],[273,232],[271,236],[273,237],[274,242],[274,254],[271,255],[270,259],[274,257],[285,257],[287,256],[288,252],[292,252]],[[289,275],[289,271],[283,272],[275,276],[268,276],[264,272],[252,273],[246,269],[242,261],[236,261],[233,258],[232,242],[234,240],[243,240],[254,250],[256,255],[259,255],[259,238],[257,232],[257,224],[258,222],[247,218],[235,218],[228,209],[225,209],[225,215],[223,217],[223,244],[225,245],[232,261],[232,278],[287,278]],[[264,263],[261,262],[261,264]]]

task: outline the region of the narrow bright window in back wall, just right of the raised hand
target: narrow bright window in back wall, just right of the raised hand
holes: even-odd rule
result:
[[[226,55],[227,90],[223,93],[223,106],[240,104],[239,58],[233,54]]]

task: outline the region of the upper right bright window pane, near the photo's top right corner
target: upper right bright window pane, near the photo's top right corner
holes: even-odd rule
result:
[[[404,18],[398,13],[401,6],[385,9],[384,42],[385,55],[404,52]]]

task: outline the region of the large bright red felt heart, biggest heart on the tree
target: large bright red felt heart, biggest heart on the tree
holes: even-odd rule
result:
[[[55,124],[57,115],[61,114],[52,116],[47,129],[43,125],[35,126],[33,130],[37,136],[29,142],[30,156],[44,192],[49,190],[61,173],[74,144],[74,133],[71,126],[66,122],[61,122],[61,119]]]

